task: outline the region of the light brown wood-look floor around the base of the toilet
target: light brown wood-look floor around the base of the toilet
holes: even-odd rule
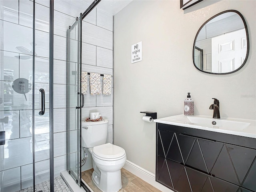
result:
[[[92,181],[92,172],[93,169],[82,172],[82,179],[94,192],[101,192]],[[119,190],[120,192],[161,192],[124,168],[121,169],[121,175],[122,188]]]

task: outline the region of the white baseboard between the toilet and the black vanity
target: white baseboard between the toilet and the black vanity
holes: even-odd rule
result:
[[[132,174],[136,175],[137,177],[141,178],[142,180],[146,181],[150,185],[154,186],[155,188],[159,189],[162,192],[174,192],[167,188],[166,186],[163,186],[162,184],[156,182],[156,175],[149,172],[148,170],[134,164],[133,162],[130,162],[126,160],[124,164],[124,168],[131,172]]]

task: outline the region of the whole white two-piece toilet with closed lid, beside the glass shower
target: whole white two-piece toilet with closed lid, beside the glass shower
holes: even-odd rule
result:
[[[125,150],[106,143],[108,120],[82,122],[82,147],[89,148],[93,159],[92,180],[103,192],[122,188],[121,168],[126,161]]]

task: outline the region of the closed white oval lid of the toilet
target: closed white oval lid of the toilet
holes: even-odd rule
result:
[[[93,148],[94,155],[104,159],[116,159],[125,155],[125,150],[122,147],[106,143],[95,146]]]

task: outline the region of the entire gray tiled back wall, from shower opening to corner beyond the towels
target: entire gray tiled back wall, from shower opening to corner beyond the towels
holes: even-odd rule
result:
[[[75,18],[88,8],[88,4],[82,1],[54,1],[54,165],[55,176],[61,171],[66,170],[67,155],[74,161],[76,160],[76,146],[66,148],[66,138],[74,136],[77,140],[76,128],[66,127],[66,108],[75,110],[76,95],[74,103],[66,106],[66,30]],[[98,8],[95,8],[86,16],[82,22],[82,71],[97,72],[100,74],[113,75],[113,16]],[[77,37],[71,36],[72,41]],[[75,52],[76,50],[74,50]],[[70,58],[71,62],[76,62]],[[101,84],[103,86],[102,77]],[[88,76],[89,85],[89,76]],[[76,88],[75,84],[68,85],[69,88]],[[102,87],[103,89],[103,87]],[[104,118],[108,118],[108,138],[107,142],[113,143],[113,83],[112,95],[103,96],[84,95],[84,108],[82,108],[82,119],[89,117],[90,112],[100,112]],[[76,119],[70,118],[70,125],[74,125]],[[73,123],[72,123],[73,122]],[[67,152],[67,153],[66,153]],[[84,154],[82,153],[82,157]],[[69,158],[69,159],[70,159]],[[58,160],[58,163],[55,163]],[[70,164],[74,164],[70,162]],[[92,168],[91,157],[88,158],[83,170]]]

